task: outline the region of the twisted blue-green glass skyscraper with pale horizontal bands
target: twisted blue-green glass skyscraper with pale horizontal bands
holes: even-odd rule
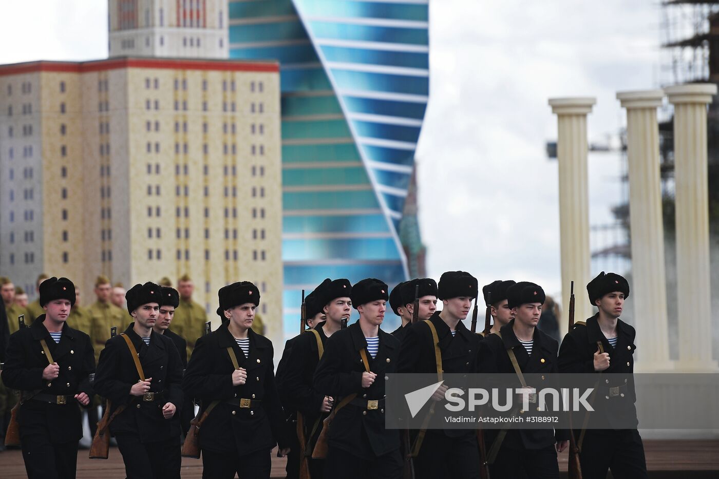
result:
[[[303,288],[327,277],[391,288],[407,277],[399,225],[429,95],[428,9],[229,1],[230,57],[280,61],[288,336]]]

